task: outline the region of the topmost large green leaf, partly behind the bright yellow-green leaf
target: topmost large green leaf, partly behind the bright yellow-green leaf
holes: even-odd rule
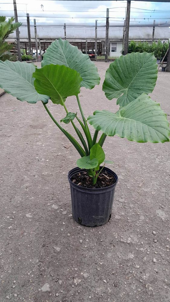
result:
[[[77,46],[67,40],[55,40],[43,55],[42,66],[49,64],[65,65],[79,72],[83,81],[81,86],[93,88],[100,83],[98,69],[88,55],[83,54]]]

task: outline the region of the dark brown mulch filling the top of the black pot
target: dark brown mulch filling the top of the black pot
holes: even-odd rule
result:
[[[116,180],[113,175],[105,171],[104,169],[98,176],[97,182],[93,185],[93,180],[90,176],[88,176],[87,171],[82,171],[74,174],[71,177],[71,181],[80,187],[90,188],[90,189],[100,189],[106,188],[110,185],[113,185]]]

